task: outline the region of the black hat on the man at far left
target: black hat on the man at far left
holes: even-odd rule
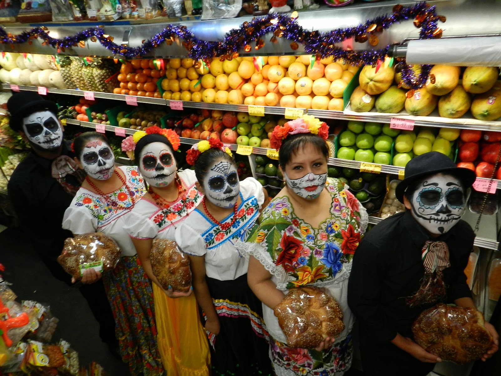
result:
[[[11,113],[9,126],[12,130],[19,131],[23,125],[23,118],[40,109],[47,109],[54,114],[58,113],[58,106],[52,101],[43,99],[37,93],[21,91],[14,94],[7,101],[7,109]]]

